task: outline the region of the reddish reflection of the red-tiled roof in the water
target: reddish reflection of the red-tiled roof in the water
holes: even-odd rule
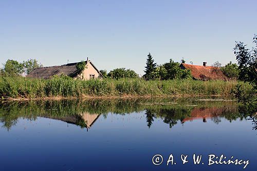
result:
[[[216,118],[226,111],[233,111],[233,109],[230,107],[194,108],[191,111],[191,116],[183,119],[181,123],[198,119],[203,119],[203,122],[207,122],[207,119]]]

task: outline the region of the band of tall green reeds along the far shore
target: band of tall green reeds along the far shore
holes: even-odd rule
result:
[[[236,81],[143,79],[72,80],[58,77],[51,80],[24,77],[0,77],[2,99],[86,98],[86,97],[158,97],[158,96],[229,96]],[[245,90],[251,89],[241,83]]]

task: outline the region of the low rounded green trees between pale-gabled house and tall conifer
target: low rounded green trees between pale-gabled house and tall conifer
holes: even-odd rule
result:
[[[121,78],[138,78],[138,74],[131,69],[125,68],[116,68],[111,70],[108,74],[108,77],[112,79],[121,79]]]

